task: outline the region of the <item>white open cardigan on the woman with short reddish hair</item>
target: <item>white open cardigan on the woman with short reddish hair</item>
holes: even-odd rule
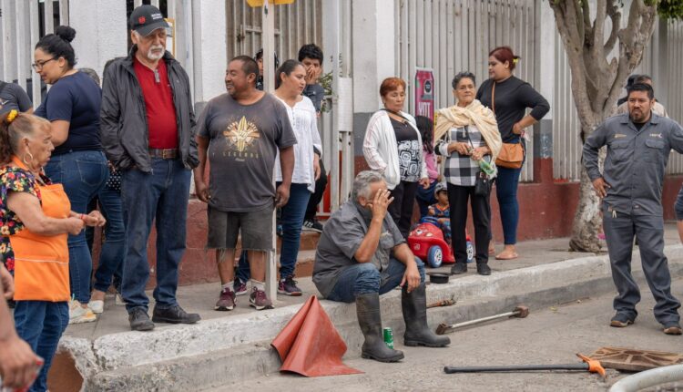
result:
[[[422,152],[423,138],[415,125],[415,119],[408,113],[401,112],[401,115],[408,119],[408,123],[417,134],[417,141],[420,143]],[[396,188],[401,183],[401,173],[399,172],[398,162],[398,143],[396,133],[393,130],[392,120],[386,110],[376,111],[368,122],[365,129],[365,139],[362,141],[362,154],[368,162],[370,169],[377,170],[384,176],[387,188]],[[427,178],[427,164],[420,154],[420,178]]]

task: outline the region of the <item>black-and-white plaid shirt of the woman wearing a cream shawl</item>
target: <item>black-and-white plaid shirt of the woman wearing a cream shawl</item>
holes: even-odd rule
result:
[[[469,139],[467,134],[469,133]],[[472,160],[469,155],[460,155],[457,151],[448,153],[448,144],[454,141],[470,144],[476,149],[484,147],[486,141],[482,138],[482,133],[474,125],[464,128],[452,128],[443,137],[436,141],[434,151],[437,155],[445,157],[445,164],[443,167],[443,176],[445,180],[464,187],[474,187],[476,176],[479,174],[479,163]],[[490,162],[491,156],[485,155],[484,160]]]

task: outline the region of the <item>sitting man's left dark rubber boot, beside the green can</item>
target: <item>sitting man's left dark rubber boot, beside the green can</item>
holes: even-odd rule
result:
[[[384,343],[382,332],[382,314],[380,313],[380,294],[356,295],[356,314],[361,325],[365,343],[362,344],[361,356],[380,362],[398,362],[403,359],[403,352],[389,348]]]

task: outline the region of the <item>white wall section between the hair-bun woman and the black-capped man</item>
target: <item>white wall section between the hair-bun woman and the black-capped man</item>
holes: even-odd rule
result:
[[[76,29],[76,67],[102,77],[107,60],[127,55],[126,0],[71,0],[69,23]]]

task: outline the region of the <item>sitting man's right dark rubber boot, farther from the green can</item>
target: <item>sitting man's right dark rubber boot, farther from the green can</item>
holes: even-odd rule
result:
[[[401,309],[405,321],[405,346],[443,347],[451,344],[448,336],[436,335],[427,325],[426,285],[420,284],[408,293],[406,287],[401,292]]]

